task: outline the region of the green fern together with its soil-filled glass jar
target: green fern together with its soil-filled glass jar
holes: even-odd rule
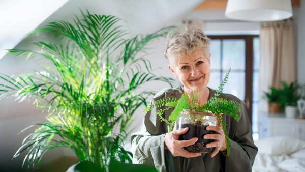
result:
[[[214,140],[203,139],[203,136],[204,134],[208,134],[210,132],[206,130],[206,127],[208,125],[217,125],[216,118],[218,118],[219,124],[221,124],[222,129],[225,133],[225,141],[228,151],[227,156],[229,156],[230,142],[229,137],[227,135],[228,132],[225,129],[225,126],[227,124],[225,124],[222,120],[221,114],[230,115],[235,120],[239,121],[238,112],[240,111],[240,104],[233,100],[227,101],[226,99],[218,98],[217,96],[219,96],[219,93],[221,93],[221,90],[223,90],[222,87],[228,81],[227,79],[230,70],[225,75],[225,78],[220,84],[218,90],[216,90],[215,96],[209,99],[208,102],[205,104],[199,105],[198,90],[198,94],[196,93],[196,91],[194,91],[193,96],[190,96],[188,93],[182,94],[179,100],[177,98],[164,98],[161,100],[157,100],[154,104],[147,106],[143,110],[143,112],[150,111],[151,108],[154,107],[167,106],[166,108],[157,111],[157,114],[159,114],[161,121],[165,121],[170,126],[168,132],[170,132],[173,128],[180,129],[189,127],[188,132],[180,135],[179,140],[189,140],[191,138],[197,137],[198,141],[194,145],[184,148],[189,152],[195,153],[211,153],[212,151],[214,151],[214,149],[212,148],[210,149],[205,147],[206,144]],[[162,117],[164,111],[173,107],[175,107],[175,109],[170,114],[168,120],[164,119]]]

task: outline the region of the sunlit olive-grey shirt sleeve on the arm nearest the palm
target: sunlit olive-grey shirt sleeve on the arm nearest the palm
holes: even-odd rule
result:
[[[155,100],[153,99],[151,103]],[[138,132],[131,135],[132,153],[134,164],[148,164],[156,167],[158,171],[166,171],[164,151],[166,132],[156,113],[161,108],[153,108],[147,112]]]

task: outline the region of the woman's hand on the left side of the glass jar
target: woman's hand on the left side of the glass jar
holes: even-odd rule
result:
[[[198,138],[192,138],[190,140],[180,141],[179,135],[185,134],[187,131],[188,128],[181,128],[165,134],[164,144],[174,157],[182,156],[186,158],[194,158],[201,155],[201,153],[190,153],[183,148],[194,145],[198,140]]]

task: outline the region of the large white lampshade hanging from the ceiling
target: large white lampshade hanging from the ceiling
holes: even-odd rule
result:
[[[276,21],[292,16],[291,0],[228,0],[225,16],[245,21]]]

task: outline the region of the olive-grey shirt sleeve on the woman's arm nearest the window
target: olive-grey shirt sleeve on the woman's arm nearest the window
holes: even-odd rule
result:
[[[233,118],[227,119],[229,119],[226,124],[229,126],[227,130],[229,132],[230,155],[225,160],[225,171],[252,171],[258,149],[254,145],[251,124],[242,101],[240,101],[239,122]]]

